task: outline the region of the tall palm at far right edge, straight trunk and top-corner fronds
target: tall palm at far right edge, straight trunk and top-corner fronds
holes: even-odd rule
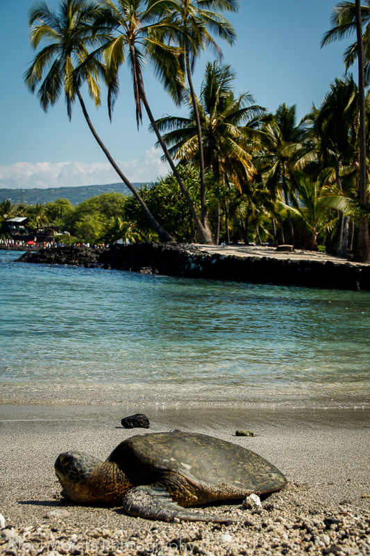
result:
[[[333,10],[332,28],[326,32],[321,41],[321,46],[340,40],[355,31],[357,43],[351,45],[345,53],[346,65],[353,64],[355,58],[358,59],[358,93],[359,93],[359,112],[360,112],[360,177],[359,177],[359,198],[363,204],[367,202],[367,175],[366,175],[366,115],[365,115],[365,70],[366,63],[367,76],[369,76],[370,62],[370,42],[369,42],[369,22],[370,6],[364,7],[364,22],[366,28],[366,58],[364,58],[364,46],[362,38],[362,8],[360,0],[353,2],[340,2]],[[368,31],[369,27],[369,31]],[[364,218],[360,218],[360,230],[356,256],[359,261],[370,262],[370,236],[369,225]]]

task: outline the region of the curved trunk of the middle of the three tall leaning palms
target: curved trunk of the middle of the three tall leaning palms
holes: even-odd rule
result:
[[[131,51],[131,58],[132,58],[132,60],[135,60],[135,51],[133,50],[132,46],[130,48],[132,50]],[[194,203],[192,202],[192,199],[190,198],[190,195],[187,191],[187,188],[185,187],[185,184],[184,184],[183,180],[181,179],[180,174],[178,173],[178,170],[176,169],[176,166],[174,165],[174,161],[172,160],[172,157],[169,154],[167,146],[165,145],[165,142],[164,142],[164,140],[163,140],[163,138],[160,134],[160,131],[158,129],[158,125],[155,123],[153,114],[151,113],[151,109],[150,109],[150,106],[149,106],[148,99],[146,99],[144,83],[142,83],[142,77],[138,72],[137,72],[137,89],[139,91],[140,99],[141,99],[142,103],[144,104],[146,114],[148,115],[149,121],[151,122],[151,125],[153,127],[153,131],[154,131],[155,135],[157,136],[157,139],[158,139],[158,142],[159,142],[160,146],[162,147],[162,151],[164,152],[165,157],[167,159],[167,162],[169,163],[169,166],[171,167],[171,170],[174,173],[174,177],[176,177],[178,185],[180,186],[180,190],[185,195],[185,199],[187,200],[187,205],[190,208],[190,212],[192,213],[192,217],[194,219],[196,229],[198,230],[198,233],[199,233],[199,240],[200,240],[201,243],[205,243],[205,244],[208,244],[208,245],[213,245],[214,241],[213,241],[210,229],[206,230],[205,227],[203,227],[203,224],[201,223],[199,215],[195,210]]]

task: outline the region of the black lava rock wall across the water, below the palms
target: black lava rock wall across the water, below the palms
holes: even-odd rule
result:
[[[292,259],[208,252],[196,245],[134,243],[104,250],[89,247],[53,247],[27,252],[23,263],[78,265],[129,270],[187,278],[245,281],[257,284],[308,286],[370,291],[370,265],[349,261]]]

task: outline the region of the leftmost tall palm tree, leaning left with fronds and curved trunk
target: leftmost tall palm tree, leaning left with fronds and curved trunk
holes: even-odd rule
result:
[[[106,28],[93,26],[94,19],[100,11],[100,4],[94,0],[60,0],[58,12],[49,8],[44,0],[35,3],[29,14],[30,42],[34,49],[37,49],[42,41],[47,45],[35,56],[31,66],[24,74],[24,81],[33,93],[39,87],[37,97],[45,112],[49,106],[53,106],[58,101],[64,92],[67,114],[71,119],[72,105],[76,97],[78,98],[87,125],[108,161],[140,202],[146,218],[157,231],[160,240],[171,241],[173,240],[171,236],[151,214],[137,190],[121,172],[96,133],[81,96],[81,84],[85,81],[90,97],[94,99],[96,106],[101,104],[99,74],[104,74],[105,68],[99,58],[89,56],[88,51],[89,47],[99,46],[110,36]],[[77,78],[76,67],[81,68]]]

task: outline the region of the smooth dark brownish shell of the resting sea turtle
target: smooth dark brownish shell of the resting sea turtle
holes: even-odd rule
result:
[[[278,491],[287,480],[260,455],[205,434],[162,432],[131,436],[121,442],[114,461],[132,484],[166,483],[181,477],[213,499],[242,498],[248,493]]]

